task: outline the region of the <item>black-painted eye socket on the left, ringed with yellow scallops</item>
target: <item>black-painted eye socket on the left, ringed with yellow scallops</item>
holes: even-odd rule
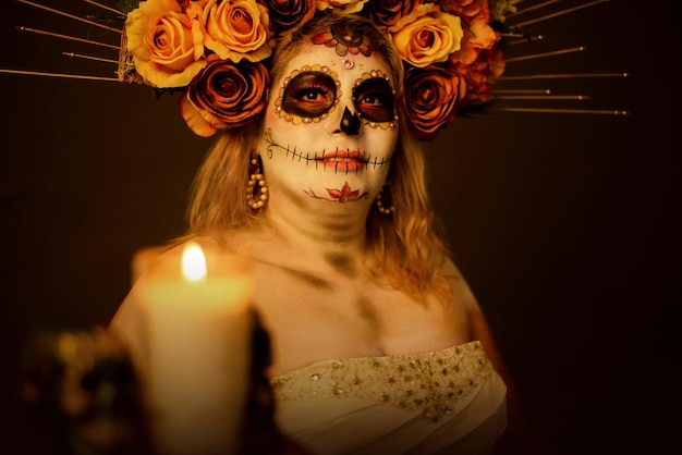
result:
[[[296,75],[284,88],[284,112],[305,116],[320,116],[331,109],[337,99],[337,83],[326,73],[308,71]]]

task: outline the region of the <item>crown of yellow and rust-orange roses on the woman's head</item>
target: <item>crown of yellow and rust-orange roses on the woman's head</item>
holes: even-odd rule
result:
[[[386,34],[404,65],[407,123],[422,140],[434,138],[458,109],[490,101],[490,86],[504,69],[496,30],[502,16],[488,0],[127,3],[119,78],[182,90],[180,112],[199,136],[256,121],[282,33],[325,12],[367,17]],[[340,54],[362,52],[340,37],[329,39]]]

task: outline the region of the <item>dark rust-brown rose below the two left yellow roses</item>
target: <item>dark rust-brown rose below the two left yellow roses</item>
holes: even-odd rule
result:
[[[267,104],[268,69],[260,62],[216,60],[180,97],[180,113],[199,136],[252,123]]]

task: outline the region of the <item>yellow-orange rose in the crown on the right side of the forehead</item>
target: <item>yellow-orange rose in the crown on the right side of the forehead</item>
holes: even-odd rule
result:
[[[444,62],[460,49],[464,32],[460,17],[437,4],[421,4],[389,28],[395,50],[407,63],[425,67]]]

